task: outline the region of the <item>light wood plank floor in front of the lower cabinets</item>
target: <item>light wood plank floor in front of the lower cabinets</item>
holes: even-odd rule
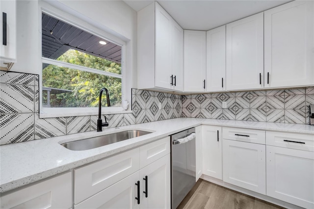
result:
[[[284,209],[205,180],[198,180],[177,209]]]

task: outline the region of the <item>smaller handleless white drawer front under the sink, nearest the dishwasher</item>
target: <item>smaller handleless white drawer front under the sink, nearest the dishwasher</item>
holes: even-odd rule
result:
[[[166,137],[155,142],[140,147],[140,167],[156,161],[170,153],[170,137]]]

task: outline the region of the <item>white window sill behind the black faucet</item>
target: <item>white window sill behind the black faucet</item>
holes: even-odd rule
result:
[[[132,110],[123,110],[121,107],[112,107],[110,109],[102,108],[102,115],[132,113]],[[98,115],[98,108],[42,108],[43,113],[39,113],[39,118],[73,117]]]

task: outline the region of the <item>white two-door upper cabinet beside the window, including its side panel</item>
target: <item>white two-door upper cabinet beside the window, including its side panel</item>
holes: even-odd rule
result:
[[[157,3],[137,13],[137,88],[183,91],[183,29]]]

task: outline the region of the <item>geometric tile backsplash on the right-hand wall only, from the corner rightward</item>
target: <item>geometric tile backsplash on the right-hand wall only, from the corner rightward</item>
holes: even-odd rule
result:
[[[183,117],[310,124],[314,87],[189,95],[182,101]]]

